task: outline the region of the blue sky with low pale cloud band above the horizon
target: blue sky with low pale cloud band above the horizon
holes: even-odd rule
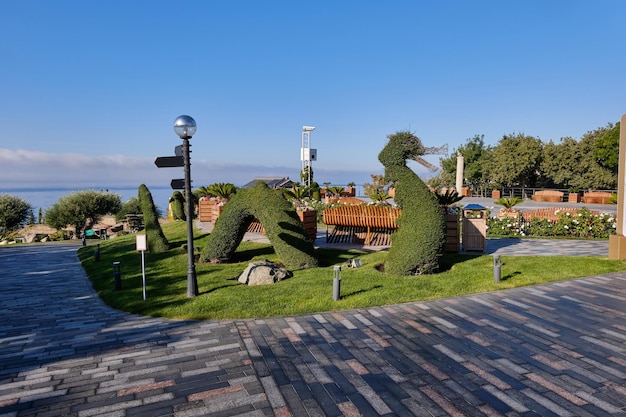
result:
[[[298,180],[303,125],[337,185],[399,130],[579,139],[626,113],[625,25],[623,0],[0,0],[0,191],[167,185],[181,114],[194,186]]]

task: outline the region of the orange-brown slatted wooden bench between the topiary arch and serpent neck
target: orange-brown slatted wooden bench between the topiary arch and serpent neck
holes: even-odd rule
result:
[[[328,243],[363,243],[384,246],[391,243],[391,234],[398,229],[397,208],[367,205],[342,205],[322,213]],[[329,234],[328,226],[334,226]]]

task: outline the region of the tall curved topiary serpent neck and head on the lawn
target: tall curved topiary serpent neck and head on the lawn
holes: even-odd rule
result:
[[[394,183],[395,201],[402,209],[385,261],[385,272],[390,274],[430,274],[439,268],[446,241],[444,214],[435,195],[406,166],[407,159],[416,159],[424,151],[417,136],[398,132],[389,136],[389,143],[378,155],[385,167],[385,180]]]

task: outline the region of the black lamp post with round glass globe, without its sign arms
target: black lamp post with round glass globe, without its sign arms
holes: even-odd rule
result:
[[[196,133],[196,121],[190,116],[178,116],[174,121],[174,132],[183,140],[185,167],[185,200],[187,201],[187,297],[198,295],[196,265],[193,250],[193,199],[191,196],[191,162],[189,139]]]

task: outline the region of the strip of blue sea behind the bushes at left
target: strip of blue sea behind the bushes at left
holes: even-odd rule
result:
[[[65,197],[68,194],[84,191],[110,191],[118,194],[122,203],[128,201],[131,197],[137,197],[139,187],[87,187],[87,188],[70,188],[70,187],[41,187],[41,188],[0,188],[0,194],[9,194],[12,196],[21,197],[26,200],[27,203],[33,208],[35,216],[41,208],[45,210],[56,203],[59,198]],[[154,204],[163,212],[167,211],[167,205],[169,198],[172,196],[174,190],[166,186],[148,186],[150,193],[152,194],[152,200]]]

